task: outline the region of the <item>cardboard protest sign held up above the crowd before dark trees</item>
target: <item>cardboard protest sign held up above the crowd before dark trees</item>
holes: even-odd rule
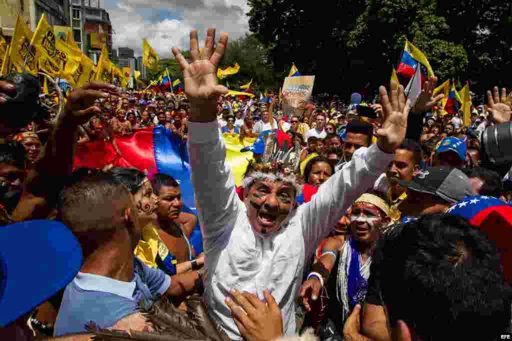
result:
[[[311,101],[315,76],[286,77],[283,84],[282,103],[288,116],[302,116]]]

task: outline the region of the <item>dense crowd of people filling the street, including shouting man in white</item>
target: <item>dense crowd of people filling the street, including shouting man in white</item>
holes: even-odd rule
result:
[[[392,82],[371,104],[332,97],[290,109],[277,96],[226,96],[216,77],[226,44],[209,29],[200,53],[193,30],[191,61],[173,48],[184,93],[91,82],[60,112],[41,97],[46,121],[10,104],[22,89],[0,81],[2,339],[512,332],[512,165],[495,167],[481,143],[486,128],[510,121],[512,94],[490,90],[467,126],[433,96],[435,77],[415,102]],[[121,154],[116,138],[156,126],[188,148],[197,215],[182,210],[170,175],[73,169],[78,144],[103,139]],[[240,186],[226,135],[263,140],[249,148]],[[189,241],[198,222],[204,253]]]

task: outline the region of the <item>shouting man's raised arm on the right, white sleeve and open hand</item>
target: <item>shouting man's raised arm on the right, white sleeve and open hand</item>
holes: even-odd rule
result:
[[[407,117],[414,103],[406,102],[403,86],[397,88],[395,82],[392,83],[391,100],[385,87],[381,86],[379,91],[384,123],[377,130],[377,144],[359,148],[352,160],[320,186],[310,202],[299,208],[302,209],[303,233],[308,248],[306,259],[354,200],[373,188],[375,180],[386,171],[395,149],[405,138]]]

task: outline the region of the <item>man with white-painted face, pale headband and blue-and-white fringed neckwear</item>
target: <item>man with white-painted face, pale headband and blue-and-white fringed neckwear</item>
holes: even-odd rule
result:
[[[376,194],[365,193],[352,205],[349,218],[348,239],[327,239],[322,256],[313,264],[300,291],[306,311],[323,305],[324,297],[329,298],[324,320],[320,322],[321,339],[343,335],[345,320],[355,304],[364,300],[371,255],[379,234],[390,221],[389,206]],[[322,298],[318,300],[319,297]]]

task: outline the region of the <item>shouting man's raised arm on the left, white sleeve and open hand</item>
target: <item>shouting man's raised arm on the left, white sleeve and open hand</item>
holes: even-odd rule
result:
[[[224,163],[226,146],[219,134],[217,99],[227,93],[217,84],[217,65],[224,54],[227,34],[222,33],[214,49],[215,29],[209,29],[201,57],[197,31],[190,32],[189,64],[180,50],[173,54],[183,70],[185,94],[190,100],[188,153],[205,254],[214,247],[227,226],[233,226],[242,202],[237,196],[231,169]]]

